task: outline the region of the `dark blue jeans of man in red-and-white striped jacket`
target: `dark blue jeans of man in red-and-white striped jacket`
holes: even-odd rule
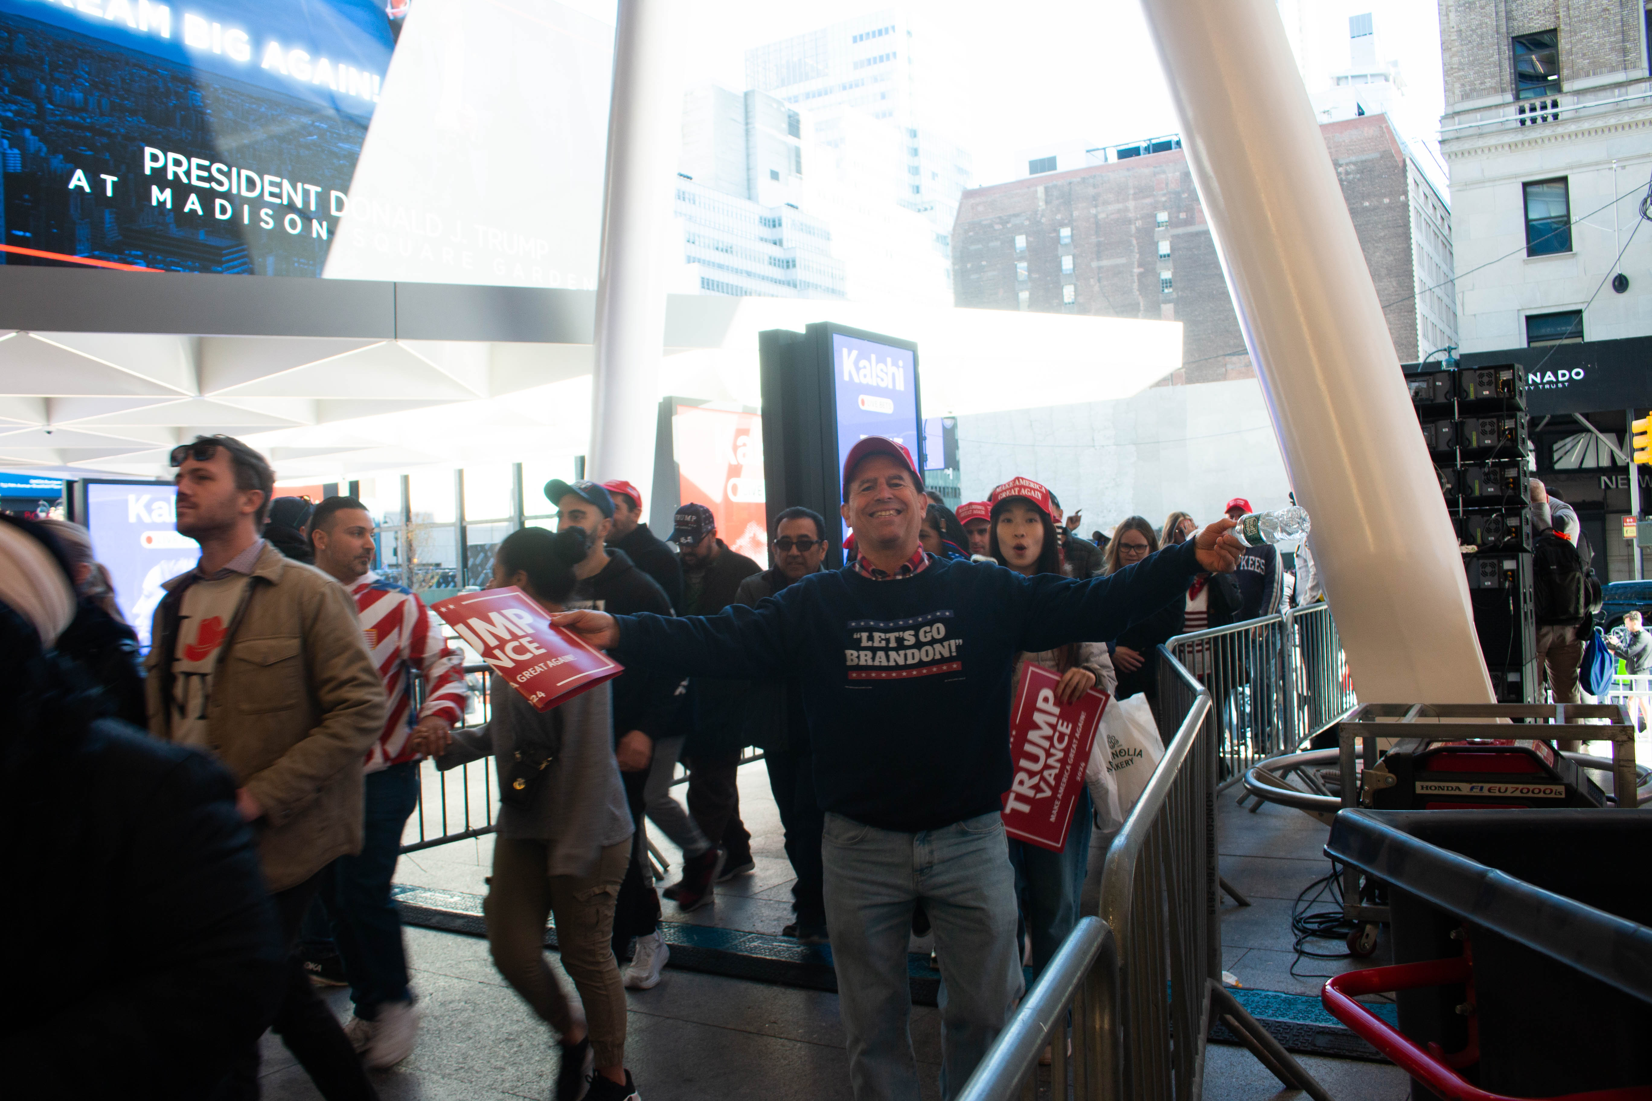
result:
[[[390,880],[401,852],[401,829],[418,806],[418,766],[406,761],[365,777],[362,852],[339,857],[322,873],[320,905],[344,977],[350,981],[355,1015],[363,1020],[373,1020],[385,1002],[413,997]]]

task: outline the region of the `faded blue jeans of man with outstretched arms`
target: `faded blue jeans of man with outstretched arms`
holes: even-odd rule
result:
[[[919,1096],[907,944],[919,900],[940,956],[940,1094],[955,1096],[1021,997],[1016,890],[996,812],[902,834],[826,815],[826,923],[856,1101]]]

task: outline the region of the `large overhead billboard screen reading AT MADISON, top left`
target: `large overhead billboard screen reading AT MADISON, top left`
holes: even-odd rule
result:
[[[0,262],[593,286],[611,36],[550,0],[0,0]]]

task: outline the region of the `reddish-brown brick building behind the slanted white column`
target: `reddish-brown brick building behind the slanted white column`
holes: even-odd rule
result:
[[[1455,342],[1450,211],[1386,116],[1320,127],[1403,361]],[[1227,284],[1180,149],[963,193],[957,305],[1183,324],[1171,383],[1251,378]],[[1436,289],[1437,287],[1437,289]]]

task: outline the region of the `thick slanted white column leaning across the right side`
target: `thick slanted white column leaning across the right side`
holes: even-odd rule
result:
[[[1457,538],[1274,0],[1142,0],[1360,698],[1482,703]]]

